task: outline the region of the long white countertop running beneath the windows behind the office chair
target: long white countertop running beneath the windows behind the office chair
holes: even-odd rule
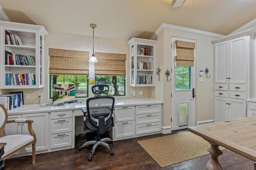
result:
[[[151,98],[145,99],[125,99],[125,100],[115,100],[115,107],[122,106],[137,106],[137,105],[148,105],[148,104],[162,104],[163,102],[159,100],[154,100]],[[24,114],[24,113],[42,113],[51,111],[64,111],[64,110],[79,110],[86,107],[86,102],[72,103],[67,106],[46,106],[45,104],[31,104],[23,105],[12,110],[8,110],[9,115]]]

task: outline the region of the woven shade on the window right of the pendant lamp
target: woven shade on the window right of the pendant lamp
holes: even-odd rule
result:
[[[126,54],[95,52],[95,75],[125,76]]]

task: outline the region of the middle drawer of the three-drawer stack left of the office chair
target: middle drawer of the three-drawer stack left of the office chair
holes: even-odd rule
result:
[[[72,118],[51,120],[51,134],[72,131]]]

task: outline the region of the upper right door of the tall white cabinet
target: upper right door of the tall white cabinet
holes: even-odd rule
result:
[[[229,41],[229,83],[246,83],[248,68],[247,37]]]

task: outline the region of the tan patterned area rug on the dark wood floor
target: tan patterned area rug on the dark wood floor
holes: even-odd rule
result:
[[[138,143],[161,167],[209,154],[206,148],[210,146],[192,132],[146,139]]]

